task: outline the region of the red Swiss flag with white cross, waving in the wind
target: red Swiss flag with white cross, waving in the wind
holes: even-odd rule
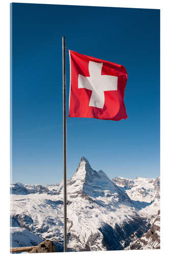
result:
[[[69,50],[69,117],[127,119],[124,66]]]

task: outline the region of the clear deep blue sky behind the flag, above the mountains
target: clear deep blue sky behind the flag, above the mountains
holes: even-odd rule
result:
[[[63,179],[63,35],[70,50],[128,73],[127,120],[67,119],[68,178],[82,156],[110,178],[160,175],[159,20],[152,9],[12,4],[12,182]]]

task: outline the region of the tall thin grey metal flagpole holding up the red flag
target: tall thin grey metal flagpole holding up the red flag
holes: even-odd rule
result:
[[[62,37],[63,52],[63,170],[64,170],[64,252],[67,251],[67,191],[66,191],[66,69],[65,69],[65,36]]]

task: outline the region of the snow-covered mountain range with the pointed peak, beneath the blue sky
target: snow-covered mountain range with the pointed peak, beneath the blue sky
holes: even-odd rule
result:
[[[110,180],[82,157],[67,182],[68,250],[125,249],[132,242],[132,233],[134,241],[149,232],[159,210],[159,191],[160,178]],[[56,250],[62,251],[62,184],[16,183],[11,185],[11,194],[11,246],[31,246],[51,239]]]

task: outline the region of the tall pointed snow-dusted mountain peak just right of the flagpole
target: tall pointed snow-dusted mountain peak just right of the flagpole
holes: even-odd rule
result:
[[[85,157],[81,158],[76,173],[72,175],[67,184],[71,197],[77,197],[80,194],[93,198],[114,195],[118,200],[121,198],[129,201],[128,195],[122,193],[103,170],[99,170],[99,172],[93,170]]]

